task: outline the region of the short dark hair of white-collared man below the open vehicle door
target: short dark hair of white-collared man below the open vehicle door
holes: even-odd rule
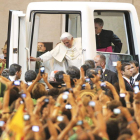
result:
[[[16,72],[21,70],[21,66],[19,64],[12,64],[9,68],[9,75],[14,76]]]

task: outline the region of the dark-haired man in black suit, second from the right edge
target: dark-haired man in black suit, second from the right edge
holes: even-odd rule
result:
[[[130,83],[130,78],[132,77],[132,70],[130,63],[124,62],[121,67],[121,73],[125,82],[125,88],[127,91],[133,92],[132,84]]]

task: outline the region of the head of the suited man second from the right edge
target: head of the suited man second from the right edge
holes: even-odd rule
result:
[[[130,77],[132,76],[132,70],[131,70],[130,63],[128,63],[128,62],[122,63],[121,72],[124,77],[130,79]]]

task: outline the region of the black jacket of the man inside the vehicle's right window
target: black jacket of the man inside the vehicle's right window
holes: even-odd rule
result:
[[[122,49],[121,40],[117,35],[110,30],[103,30],[99,35],[96,35],[96,47],[97,49],[107,48],[111,46],[111,43],[115,45],[114,52],[120,53]]]

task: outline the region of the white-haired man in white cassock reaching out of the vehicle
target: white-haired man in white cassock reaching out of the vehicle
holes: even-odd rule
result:
[[[83,63],[81,38],[73,38],[70,33],[63,33],[59,43],[53,50],[48,51],[38,58],[30,57],[31,61],[42,61],[54,59],[53,70],[66,71],[67,66],[80,68]],[[50,64],[52,65],[52,64]]]

